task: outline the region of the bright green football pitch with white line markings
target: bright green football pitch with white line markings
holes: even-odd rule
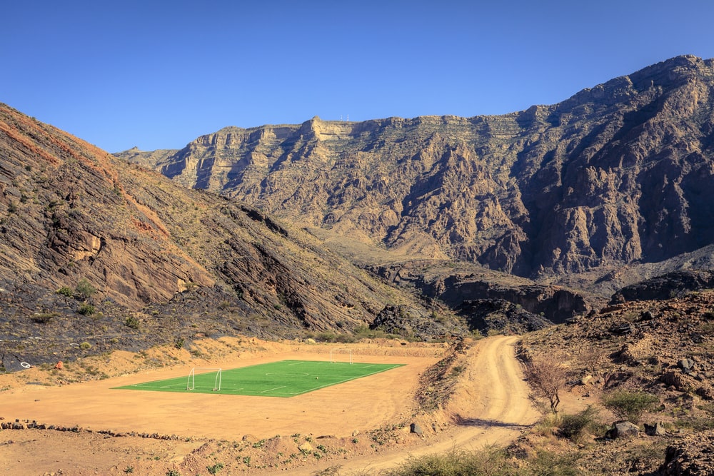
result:
[[[193,376],[155,380],[116,387],[154,392],[219,393],[260,397],[294,397],[321,388],[385,372],[404,364],[346,363],[317,360],[281,360],[230,370],[201,370]],[[187,371],[188,373],[188,371]],[[188,390],[192,388],[192,390]]]

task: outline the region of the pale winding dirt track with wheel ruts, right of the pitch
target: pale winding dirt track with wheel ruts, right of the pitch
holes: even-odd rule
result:
[[[343,472],[375,473],[393,468],[408,457],[455,448],[479,450],[487,445],[506,445],[515,440],[539,416],[528,398],[528,385],[516,360],[517,341],[517,337],[497,336],[480,340],[471,349],[473,354],[469,357],[473,360],[469,363],[468,385],[457,392],[448,409],[459,422],[456,431],[408,453],[391,451],[378,457],[350,460],[341,465]],[[308,476],[331,465],[293,470],[291,474]]]

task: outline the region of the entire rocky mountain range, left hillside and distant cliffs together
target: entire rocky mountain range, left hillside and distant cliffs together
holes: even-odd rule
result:
[[[712,66],[680,56],[505,116],[313,118],[114,155],[1,106],[0,357],[48,360],[48,336],[79,354],[523,332],[645,278],[708,283],[681,273],[714,257]]]

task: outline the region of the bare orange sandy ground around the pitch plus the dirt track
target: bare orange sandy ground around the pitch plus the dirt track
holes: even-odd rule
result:
[[[343,459],[337,462],[326,457],[319,463],[308,461],[302,469],[286,467],[272,472],[311,475],[336,464],[344,471],[377,472],[393,467],[409,455],[442,452],[453,447],[476,449],[513,440],[523,430],[523,425],[531,424],[537,417],[513,355],[516,340],[513,337],[488,338],[478,341],[469,351],[468,375],[445,412],[446,418],[456,425],[439,435],[405,437],[395,449],[386,449],[379,454],[353,450],[344,452]],[[186,460],[190,459],[187,455],[198,455],[201,448],[210,446],[206,441],[238,442],[246,435],[251,435],[251,439],[263,439],[296,434],[331,435],[344,441],[352,440],[353,435],[364,435],[368,430],[390,422],[406,421],[415,415],[418,411],[414,401],[418,378],[443,357],[446,350],[444,345],[356,344],[351,347],[356,362],[406,365],[288,399],[112,389],[119,385],[188,375],[194,365],[236,368],[286,358],[326,360],[330,348],[335,347],[289,343],[260,343],[260,346],[259,351],[246,351],[246,345],[241,348],[228,344],[234,350],[216,352],[221,354],[220,358],[192,359],[170,368],[71,385],[36,385],[41,383],[34,381],[43,372],[39,369],[29,370],[24,378],[2,375],[0,389],[4,391],[0,393],[0,417],[4,421],[36,420],[92,431],[0,431],[0,473],[103,475],[124,474],[129,468],[135,468],[134,474],[163,476],[167,464],[181,463],[181,474],[186,476],[199,474],[201,470],[205,474],[205,460],[210,455],[203,455],[204,460],[193,466]],[[211,354],[210,349],[207,352],[204,349],[204,357]],[[106,365],[111,365],[114,373],[121,372],[116,359],[107,358]],[[124,365],[130,366],[131,360]],[[181,439],[109,437],[99,433],[100,430],[179,435]],[[241,471],[272,474],[266,469],[244,468]],[[226,470],[222,474],[233,472]]]

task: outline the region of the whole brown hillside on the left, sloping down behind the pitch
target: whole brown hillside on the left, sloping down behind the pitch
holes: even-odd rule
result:
[[[414,319],[443,311],[429,333],[453,332],[448,310],[425,308],[313,237],[0,105],[6,369],[196,335],[355,330],[388,306]]]

